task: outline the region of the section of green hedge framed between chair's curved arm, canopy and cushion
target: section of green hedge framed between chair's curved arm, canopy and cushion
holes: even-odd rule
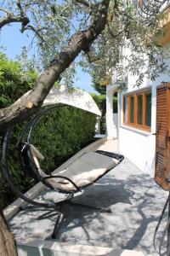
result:
[[[95,114],[74,107],[62,107],[48,113],[32,136],[32,143],[45,157],[43,169],[54,171],[54,168],[92,142],[95,124]]]

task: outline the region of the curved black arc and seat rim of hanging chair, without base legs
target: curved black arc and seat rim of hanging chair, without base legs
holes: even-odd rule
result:
[[[61,108],[61,107],[67,107],[67,105],[59,103],[59,104],[53,105],[52,107],[48,107],[48,108],[42,109],[42,111],[40,111],[40,113],[37,113],[35,115],[35,117],[33,119],[31,119],[27,123],[25,130],[22,132],[22,134],[20,135],[19,140],[17,142],[17,148],[18,148],[19,157],[20,157],[20,164],[22,166],[26,167],[24,165],[24,163],[23,163],[22,155],[21,155],[21,151],[23,149],[23,144],[29,145],[31,143],[31,135],[32,135],[32,132],[34,131],[38,121],[40,119],[42,119],[44,117],[44,115],[47,114],[48,112],[54,110],[55,108]],[[17,196],[19,196],[23,200],[27,201],[28,203],[31,203],[33,205],[37,205],[39,207],[40,206],[42,206],[42,207],[51,207],[51,205],[42,204],[42,203],[39,203],[37,201],[32,201],[29,198],[27,198],[26,195],[23,195],[20,192],[20,190],[15,187],[15,185],[14,185],[14,183],[13,183],[11,177],[10,177],[10,174],[8,172],[8,162],[7,162],[7,159],[8,159],[8,144],[9,144],[9,141],[10,141],[10,137],[11,137],[11,133],[13,131],[13,128],[14,128],[14,126],[11,126],[10,128],[8,128],[8,131],[6,132],[4,140],[3,140],[3,158],[2,158],[3,175],[4,175],[4,177],[6,177],[10,187],[14,190],[14,193]],[[23,142],[23,137],[26,135],[26,132],[28,132],[27,140],[26,140],[26,142]],[[105,152],[105,151],[102,151],[102,150],[97,150],[96,152],[99,153],[99,154],[105,154],[105,155],[110,156],[112,158],[116,158],[117,160],[119,160],[119,163],[122,162],[122,160],[124,159],[122,154],[114,154],[114,153]],[[65,191],[65,190],[57,190],[56,189],[58,192],[65,193],[65,194],[72,194],[72,193],[74,194],[74,193],[77,193],[78,191],[81,191],[81,189],[84,189],[84,188],[88,187],[90,184],[95,183],[100,177],[103,177],[107,172],[110,172],[111,169],[112,169],[112,168],[108,169],[107,172],[105,172],[101,176],[97,177],[94,180],[94,182],[89,183],[88,185],[85,185],[85,186],[80,188],[80,187],[77,186],[76,183],[74,183],[71,179],[68,179],[68,177],[65,177],[65,176],[57,176],[57,175],[54,175],[54,176],[53,175],[49,175],[48,177],[39,177],[39,176],[37,176],[37,171],[36,171],[37,167],[35,166],[34,161],[32,160],[30,150],[28,150],[27,157],[29,159],[29,162],[31,163],[31,170],[34,172],[34,176],[37,178],[37,181],[42,182],[48,188],[55,190],[48,182],[46,182],[46,180],[48,180],[48,178],[60,177],[60,178],[65,178],[66,180],[69,180],[73,184],[73,186],[75,187],[76,190],[68,192],[68,191]]]

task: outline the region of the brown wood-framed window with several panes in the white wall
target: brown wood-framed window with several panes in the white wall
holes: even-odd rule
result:
[[[124,125],[150,131],[151,91],[138,90],[123,98]]]

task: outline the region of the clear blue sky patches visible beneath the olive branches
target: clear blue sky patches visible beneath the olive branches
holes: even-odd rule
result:
[[[31,32],[21,33],[20,24],[12,24],[11,26],[4,26],[0,35],[0,45],[3,45],[5,49],[3,52],[8,56],[9,59],[15,60],[17,55],[20,55],[21,48],[23,46],[29,46],[31,44]],[[31,49],[30,55],[33,55],[34,49]],[[81,67],[77,67],[77,77],[74,80],[74,86],[88,92],[95,92],[91,86],[91,76],[88,73],[82,72]]]

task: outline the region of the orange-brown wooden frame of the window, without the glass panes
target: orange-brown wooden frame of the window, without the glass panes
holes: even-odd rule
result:
[[[123,95],[123,125],[131,126],[133,128],[143,130],[143,131],[151,131],[151,124],[150,126],[145,125],[146,122],[146,96],[151,94],[151,87],[147,87],[146,89],[142,90],[134,90],[133,92],[127,93]],[[138,96],[142,95],[142,124],[138,124]],[[134,122],[130,122],[131,119],[131,100],[130,98],[133,96],[133,120]],[[127,122],[125,121],[125,98],[127,98]],[[151,109],[150,109],[151,111]],[[150,117],[151,118],[151,117]],[[150,119],[151,121],[151,119]]]

